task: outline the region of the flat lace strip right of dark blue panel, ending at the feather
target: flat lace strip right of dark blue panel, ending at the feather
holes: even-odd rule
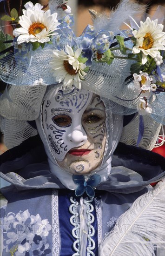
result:
[[[96,208],[96,216],[98,221],[98,244],[102,243],[102,215],[101,215],[101,199],[94,198],[95,208]]]

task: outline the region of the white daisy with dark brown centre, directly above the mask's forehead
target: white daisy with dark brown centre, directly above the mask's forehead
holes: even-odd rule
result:
[[[81,88],[81,80],[84,80],[86,75],[83,71],[86,65],[78,61],[81,52],[82,48],[78,48],[74,53],[72,47],[68,45],[66,53],[63,50],[53,51],[53,59],[50,61],[53,76],[59,83],[63,81],[64,87],[72,88],[74,85],[76,88]]]

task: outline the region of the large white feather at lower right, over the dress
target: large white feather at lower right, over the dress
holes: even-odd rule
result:
[[[165,180],[140,196],[104,238],[100,256],[165,255]]]

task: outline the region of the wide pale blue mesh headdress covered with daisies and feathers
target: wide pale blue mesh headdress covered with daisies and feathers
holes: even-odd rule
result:
[[[12,42],[4,42],[11,46],[0,53],[0,78],[7,83],[0,107],[7,147],[37,134],[31,121],[39,116],[46,90],[62,83],[106,98],[114,114],[134,114],[121,141],[152,149],[165,124],[163,15],[139,19],[144,7],[137,11],[121,2],[110,16],[90,11],[93,26],[76,37],[71,8],[63,0],[50,0],[47,11],[32,2],[25,8],[19,18],[15,9],[2,17],[19,20]]]

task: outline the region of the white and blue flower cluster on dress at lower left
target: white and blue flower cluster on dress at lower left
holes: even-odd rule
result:
[[[39,214],[30,215],[28,210],[16,215],[10,212],[4,218],[4,249],[11,256],[46,256],[51,253],[46,236],[52,229]]]

